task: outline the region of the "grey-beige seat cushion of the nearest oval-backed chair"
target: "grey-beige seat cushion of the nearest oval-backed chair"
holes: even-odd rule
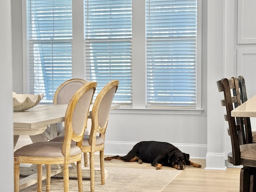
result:
[[[70,156],[78,155],[81,149],[71,144]],[[32,143],[14,152],[14,156],[34,156],[34,157],[64,157],[62,154],[61,142],[37,142]]]

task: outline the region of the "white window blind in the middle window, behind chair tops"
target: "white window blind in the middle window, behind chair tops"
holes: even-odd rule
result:
[[[85,0],[86,79],[120,81],[113,103],[132,105],[132,0]]]

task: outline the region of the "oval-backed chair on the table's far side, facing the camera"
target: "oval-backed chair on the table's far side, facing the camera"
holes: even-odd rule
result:
[[[68,104],[73,94],[84,84],[86,84],[86,80],[81,78],[72,78],[64,81],[60,86],[56,89],[53,97],[53,104]],[[64,135],[65,129],[63,126],[58,128],[58,135]],[[88,135],[89,131],[86,129],[84,134]],[[84,166],[88,166],[88,158],[87,154],[84,153]]]

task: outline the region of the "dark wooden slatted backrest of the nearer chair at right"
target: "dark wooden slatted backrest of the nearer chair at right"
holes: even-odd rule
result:
[[[251,132],[247,124],[244,124],[246,118],[234,118],[231,111],[241,104],[238,78],[222,78],[217,82],[219,92],[224,92],[224,100],[221,100],[222,106],[226,107],[224,119],[228,121],[228,133],[231,138],[233,164],[240,165],[240,145],[246,144],[245,132]]]

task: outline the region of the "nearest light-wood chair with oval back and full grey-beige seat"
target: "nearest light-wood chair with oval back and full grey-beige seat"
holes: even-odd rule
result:
[[[50,191],[51,164],[63,165],[64,192],[69,190],[69,164],[76,162],[78,191],[82,192],[82,150],[71,142],[81,142],[87,126],[88,111],[96,82],[88,82],[79,88],[68,103],[65,114],[64,141],[37,142],[23,146],[14,152],[14,192],[19,191],[20,163],[38,165],[37,191],[42,191],[42,164],[46,165],[46,191]]]

